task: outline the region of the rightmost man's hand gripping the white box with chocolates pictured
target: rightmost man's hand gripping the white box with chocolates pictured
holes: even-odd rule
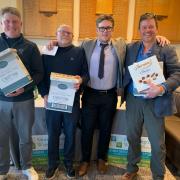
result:
[[[155,98],[164,93],[164,88],[160,85],[156,85],[152,82],[148,82],[149,88],[141,91],[141,93],[145,94],[146,98]]]

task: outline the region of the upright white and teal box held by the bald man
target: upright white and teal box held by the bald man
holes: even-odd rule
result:
[[[74,84],[79,80],[76,76],[51,73],[51,84],[46,109],[62,112],[72,112],[76,89]]]

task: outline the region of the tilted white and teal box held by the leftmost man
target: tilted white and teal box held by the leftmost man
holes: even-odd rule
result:
[[[8,95],[32,82],[27,69],[16,49],[8,48],[0,52],[0,88]]]

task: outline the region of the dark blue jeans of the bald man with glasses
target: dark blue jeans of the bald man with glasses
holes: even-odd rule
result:
[[[64,140],[64,164],[71,168],[74,159],[75,132],[79,120],[79,104],[73,107],[72,113],[46,110],[46,123],[48,130],[48,169],[58,167],[59,158],[59,136],[62,131]]]

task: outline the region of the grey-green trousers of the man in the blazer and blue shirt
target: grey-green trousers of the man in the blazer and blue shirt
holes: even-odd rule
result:
[[[126,112],[129,142],[127,171],[138,171],[137,163],[141,159],[140,143],[144,124],[151,144],[150,167],[153,177],[162,177],[163,179],[166,156],[164,118],[155,116],[153,99],[141,99],[131,94],[127,95]]]

